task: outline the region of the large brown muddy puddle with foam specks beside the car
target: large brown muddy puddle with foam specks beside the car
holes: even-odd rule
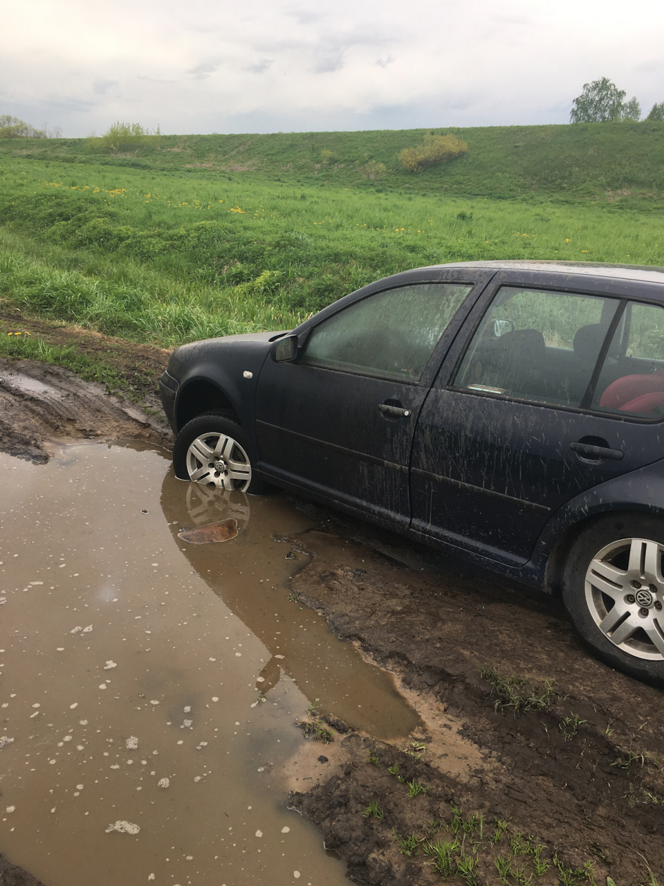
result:
[[[0,852],[46,886],[347,882],[286,808],[295,720],[317,699],[379,737],[417,718],[289,594],[308,519],[151,449],[0,470]],[[179,537],[214,523],[236,534]]]

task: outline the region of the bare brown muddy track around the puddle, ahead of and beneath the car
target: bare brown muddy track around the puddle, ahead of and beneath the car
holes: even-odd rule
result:
[[[104,349],[127,377],[138,371],[137,394],[155,405],[165,352],[39,326]],[[0,361],[0,448],[44,460],[50,441],[77,437],[170,445],[156,413],[100,385]],[[593,659],[557,602],[296,505],[320,528],[282,540],[312,555],[292,579],[294,599],[394,672],[421,716],[397,744],[345,732],[335,711],[314,712],[305,728],[309,757],[328,765],[293,776],[290,802],[351,874],[403,886],[450,874],[470,884],[661,883],[661,691]],[[333,742],[313,745],[316,734]],[[23,881],[0,868],[0,882]]]

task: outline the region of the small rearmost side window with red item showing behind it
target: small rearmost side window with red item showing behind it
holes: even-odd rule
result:
[[[598,377],[593,408],[622,416],[664,416],[664,308],[625,308]]]

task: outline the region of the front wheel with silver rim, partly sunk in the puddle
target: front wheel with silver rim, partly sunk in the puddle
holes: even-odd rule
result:
[[[239,424],[218,414],[197,416],[175,439],[175,475],[205,486],[259,495],[264,483],[255,476],[247,449],[247,436]]]

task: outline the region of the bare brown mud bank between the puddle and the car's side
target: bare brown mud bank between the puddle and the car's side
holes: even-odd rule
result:
[[[305,534],[312,563],[291,584],[341,638],[400,677],[423,719],[416,754],[350,736],[343,771],[294,798],[328,848],[365,882],[439,882],[423,850],[439,834],[453,839],[456,808],[486,828],[507,821],[501,841],[485,839],[477,852],[473,882],[502,882],[496,858],[511,857],[520,833],[549,860],[532,882],[650,884],[650,872],[661,882],[661,690],[592,658],[555,601],[365,525],[329,515],[328,525]],[[521,695],[548,701],[519,710],[487,672],[524,678]],[[390,766],[429,791],[409,797]],[[364,814],[374,798],[384,818]],[[404,854],[395,832],[416,835],[419,851]],[[481,843],[476,828],[472,838]],[[517,853],[513,871],[529,858]]]

